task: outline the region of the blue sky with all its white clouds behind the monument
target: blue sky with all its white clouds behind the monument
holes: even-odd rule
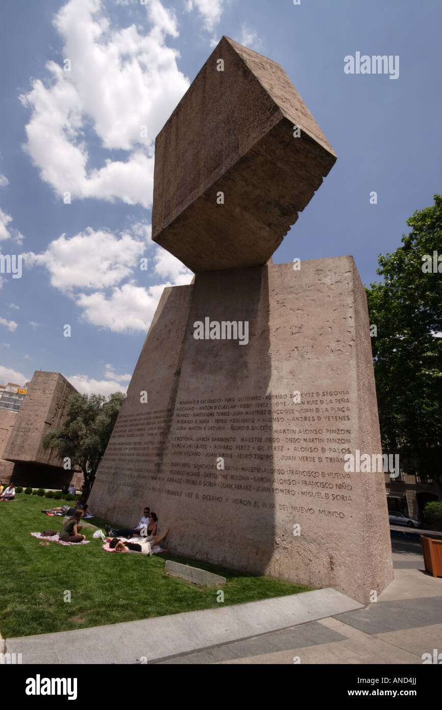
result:
[[[0,20],[0,249],[23,254],[0,383],[126,390],[162,288],[192,278],[150,240],[155,136],[223,34],[284,67],[338,155],[275,262],[350,253],[368,285],[441,192],[439,0],[3,0]],[[356,52],[399,77],[347,75]]]

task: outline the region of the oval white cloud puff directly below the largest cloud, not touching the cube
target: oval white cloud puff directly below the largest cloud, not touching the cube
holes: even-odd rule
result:
[[[144,251],[145,243],[128,231],[118,239],[110,231],[87,227],[70,239],[62,234],[40,254],[23,253],[23,260],[28,267],[45,266],[51,285],[69,295],[74,288],[115,286],[131,275]]]

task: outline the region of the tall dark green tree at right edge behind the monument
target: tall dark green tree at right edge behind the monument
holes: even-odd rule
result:
[[[382,283],[366,289],[382,447],[441,476],[442,196],[414,212],[402,246],[379,256]],[[440,261],[439,261],[440,260]],[[440,269],[440,271],[439,271]],[[413,466],[411,466],[413,467]],[[410,471],[411,472],[411,471]]]

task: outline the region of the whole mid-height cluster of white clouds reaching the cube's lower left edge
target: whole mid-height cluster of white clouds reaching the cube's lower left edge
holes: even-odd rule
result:
[[[193,277],[175,256],[157,246],[153,275],[160,276],[164,283],[138,286],[134,275],[146,273],[139,266],[146,247],[153,246],[150,234],[151,225],[146,222],[137,222],[119,238],[104,229],[88,227],[70,239],[62,234],[40,254],[24,253],[23,260],[28,268],[47,269],[51,285],[77,303],[82,320],[118,333],[145,331],[162,290],[188,284]]]

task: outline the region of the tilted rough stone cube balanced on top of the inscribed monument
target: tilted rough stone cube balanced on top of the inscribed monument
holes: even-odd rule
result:
[[[335,161],[282,67],[223,37],[156,138],[153,241],[195,272],[262,265]]]

